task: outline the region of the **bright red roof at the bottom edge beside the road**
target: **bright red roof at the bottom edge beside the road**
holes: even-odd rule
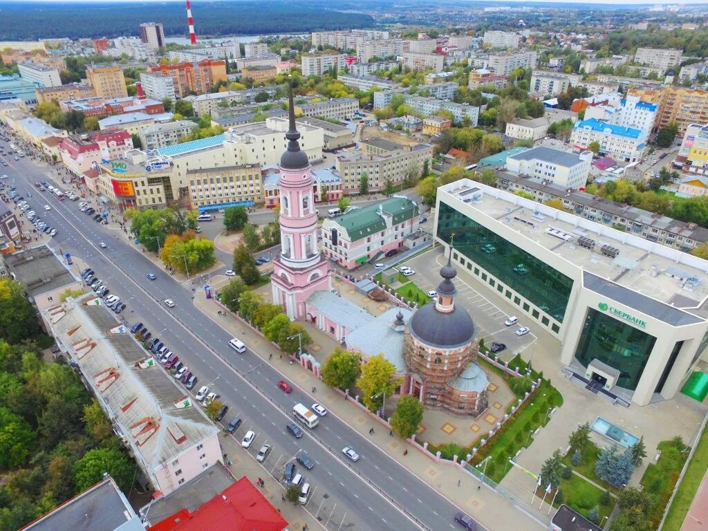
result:
[[[246,477],[190,513],[182,509],[149,531],[282,531],[287,520]]]

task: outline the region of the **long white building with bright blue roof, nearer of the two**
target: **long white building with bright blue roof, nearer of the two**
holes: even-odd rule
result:
[[[633,127],[622,127],[590,118],[579,120],[573,125],[571,143],[576,147],[589,149],[592,142],[598,142],[600,153],[614,159],[634,162],[644,155],[648,135],[649,132]]]

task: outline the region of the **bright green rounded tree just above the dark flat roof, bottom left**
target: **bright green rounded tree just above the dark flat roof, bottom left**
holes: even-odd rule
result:
[[[123,452],[113,448],[96,448],[74,465],[76,489],[85,491],[103,479],[103,474],[113,476],[120,490],[127,492],[132,487],[137,465],[130,461]]]

